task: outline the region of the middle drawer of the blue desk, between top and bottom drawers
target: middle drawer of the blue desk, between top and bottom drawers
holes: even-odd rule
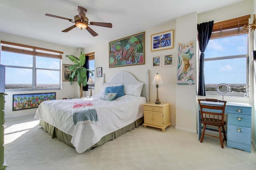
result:
[[[252,117],[248,115],[228,114],[228,124],[251,127]]]

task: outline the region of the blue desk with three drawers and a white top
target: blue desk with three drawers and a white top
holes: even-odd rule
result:
[[[201,104],[217,105],[216,102],[202,101]],[[227,147],[251,152],[251,126],[252,126],[252,107],[246,103],[227,102],[225,114],[227,119]],[[200,106],[198,104],[198,140],[202,135],[202,124]]]

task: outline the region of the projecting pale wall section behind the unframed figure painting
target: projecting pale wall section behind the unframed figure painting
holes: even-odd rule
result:
[[[197,45],[197,13],[193,12],[176,20],[176,39],[178,43],[188,44],[194,41],[196,60]],[[177,45],[176,45],[177,46]],[[194,61],[196,63],[196,61]],[[197,64],[194,64],[197,68]],[[196,70],[194,84],[176,85],[176,129],[196,133]]]

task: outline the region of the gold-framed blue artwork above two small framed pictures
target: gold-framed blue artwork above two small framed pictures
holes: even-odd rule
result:
[[[173,49],[174,29],[151,35],[151,52]]]

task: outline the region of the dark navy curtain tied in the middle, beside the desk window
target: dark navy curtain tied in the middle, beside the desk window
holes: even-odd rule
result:
[[[204,51],[208,45],[212,35],[213,21],[197,24],[198,31],[198,45],[200,50],[199,60],[199,81],[198,81],[198,96],[206,96],[204,83]]]

